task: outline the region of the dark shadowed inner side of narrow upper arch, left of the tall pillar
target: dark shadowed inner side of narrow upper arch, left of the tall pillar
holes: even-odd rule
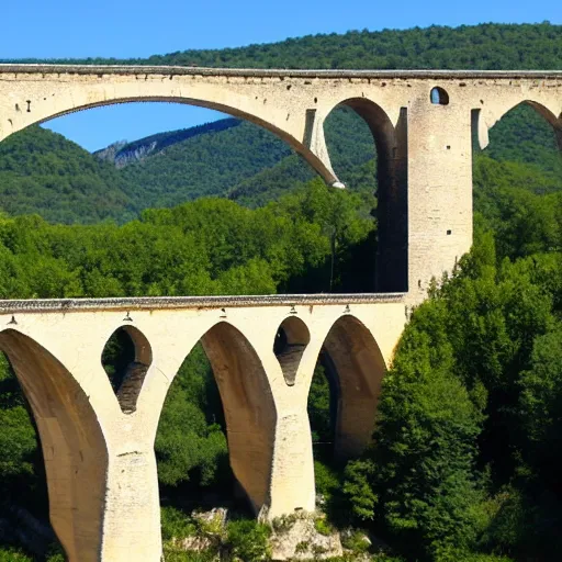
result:
[[[407,279],[407,109],[396,127],[386,112],[366,98],[338,105],[353,110],[369,126],[376,148],[378,249],[375,290],[406,292]]]

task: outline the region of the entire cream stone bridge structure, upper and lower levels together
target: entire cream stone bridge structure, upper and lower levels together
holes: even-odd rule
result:
[[[562,72],[313,71],[0,65],[0,140],[33,123],[132,101],[202,105],[285,140],[328,182],[324,121],[338,105],[378,153],[376,293],[0,302],[0,349],[37,424],[53,527],[70,562],[157,562],[154,440],[167,391],[201,341],[231,465],[257,515],[315,508],[308,389],[337,371],[336,454],[371,438],[384,372],[412,306],[472,241],[472,146],[526,102],[562,147]],[[117,393],[101,364],[119,328],[135,366]],[[282,329],[286,345],[274,349]]]

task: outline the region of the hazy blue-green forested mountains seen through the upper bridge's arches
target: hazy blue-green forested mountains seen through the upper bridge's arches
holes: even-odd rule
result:
[[[344,183],[353,191],[374,192],[375,147],[366,123],[351,110],[339,109],[326,121],[326,140]],[[135,151],[143,156],[137,159]],[[562,187],[553,131],[529,106],[513,110],[491,130],[484,155],[512,162],[504,169],[513,169],[530,189]],[[475,164],[480,169],[481,159]],[[524,182],[529,175],[532,181]],[[102,158],[41,127],[0,144],[1,207],[12,215],[38,213],[60,223],[124,223],[144,209],[206,195],[260,206],[314,177],[282,140],[237,120],[162,133]]]

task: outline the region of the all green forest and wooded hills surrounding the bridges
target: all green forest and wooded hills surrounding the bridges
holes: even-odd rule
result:
[[[143,63],[560,68],[561,40],[562,27],[548,23],[429,27]],[[0,297],[369,291],[374,147],[355,114],[331,119],[328,145],[349,191],[328,189],[279,140],[239,122],[133,143],[155,148],[120,168],[123,146],[99,158],[40,127],[13,135],[0,144]],[[326,512],[318,529],[362,529],[383,544],[380,561],[560,558],[562,158],[527,106],[474,156],[474,246],[414,312],[384,380],[374,445],[333,464],[322,360],[308,397]],[[131,353],[126,333],[115,333],[102,358],[114,386]],[[46,522],[36,430],[5,358],[0,384],[0,561],[64,560]],[[173,540],[209,531],[195,507],[244,512],[201,346],[175,379],[155,448],[166,560],[212,560]],[[265,560],[267,533],[233,518],[223,542],[232,557]],[[359,535],[346,546],[349,560],[374,555]]]

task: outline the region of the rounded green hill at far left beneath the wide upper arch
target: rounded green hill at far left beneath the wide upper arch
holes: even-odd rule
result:
[[[0,143],[0,207],[58,223],[135,216],[125,180],[63,135],[29,127]]]

